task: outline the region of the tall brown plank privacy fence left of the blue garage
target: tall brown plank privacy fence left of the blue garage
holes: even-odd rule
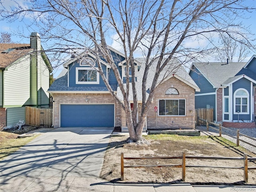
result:
[[[36,127],[51,127],[52,108],[35,108],[26,106],[26,124]]]

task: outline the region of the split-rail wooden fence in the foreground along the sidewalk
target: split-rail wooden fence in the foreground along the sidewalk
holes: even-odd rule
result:
[[[126,165],[124,166],[124,159],[182,159],[181,164],[175,165]],[[226,166],[202,166],[202,165],[186,165],[186,159],[211,159],[211,160],[244,160],[243,167],[226,167]],[[121,153],[121,180],[124,180],[124,168],[156,168],[156,167],[175,167],[182,168],[182,181],[185,181],[186,167],[196,168],[223,168],[223,169],[243,169],[244,170],[244,181],[248,182],[248,169],[256,169],[256,167],[248,167],[248,160],[253,161],[256,158],[248,158],[247,154],[244,157],[212,157],[212,156],[186,156],[186,153],[182,153],[182,156],[170,156],[170,157],[124,157],[124,153]]]

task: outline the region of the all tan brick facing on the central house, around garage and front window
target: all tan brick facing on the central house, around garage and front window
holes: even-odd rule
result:
[[[166,95],[168,88],[176,88],[179,95]],[[176,78],[170,78],[155,90],[154,103],[150,106],[147,116],[147,126],[154,128],[186,128],[194,129],[194,94],[195,90]],[[88,102],[85,99],[88,99]],[[158,116],[154,107],[158,106],[160,98],[186,99],[186,116]],[[115,104],[115,126],[126,126],[125,112],[110,94],[54,94],[54,128],[60,126],[60,104]],[[139,114],[141,106],[138,106]],[[192,112],[190,112],[192,110]]]

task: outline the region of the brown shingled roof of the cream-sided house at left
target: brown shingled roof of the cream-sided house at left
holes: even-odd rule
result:
[[[6,68],[14,61],[32,52],[30,44],[0,43],[0,68]]]

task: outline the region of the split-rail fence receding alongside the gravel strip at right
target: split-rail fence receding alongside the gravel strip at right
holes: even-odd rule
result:
[[[240,132],[239,132],[239,129],[238,129],[237,131],[233,131],[233,130],[231,130],[231,129],[228,129],[228,128],[226,128],[226,127],[221,126],[221,124],[216,124],[216,123],[214,123],[214,122],[208,122],[208,120],[204,120],[204,119],[201,119],[201,118],[198,118],[198,119],[201,120],[201,121],[203,121],[203,122],[205,122],[204,125],[206,124],[206,130],[207,130],[207,131],[209,130],[209,128],[212,128],[212,129],[214,129],[214,130],[216,130],[216,131],[219,132],[219,136],[220,136],[220,137],[221,137],[222,134],[225,134],[225,135],[227,135],[227,136],[230,136],[230,137],[236,139],[236,146],[239,146],[239,141],[242,141],[242,142],[244,142],[244,143],[246,143],[246,144],[248,144],[248,145],[250,145],[250,146],[256,147],[256,145],[254,145],[254,144],[252,144],[252,143],[250,143],[250,142],[247,142],[247,141],[245,141],[245,140],[242,140],[242,139],[239,137],[239,136],[244,136],[244,137],[246,137],[246,138],[249,138],[249,139],[251,139],[251,140],[256,141],[255,138],[252,138],[252,137],[250,137],[250,136],[248,136],[248,135],[245,135],[245,134],[240,133]],[[215,128],[215,127],[209,126],[209,124],[210,124],[210,125],[214,125],[214,126],[218,126],[218,129]],[[234,132],[234,134],[235,134],[236,136],[232,136],[232,135],[226,133],[226,132],[223,131],[223,130],[229,130],[229,131],[231,131],[231,132]]]

